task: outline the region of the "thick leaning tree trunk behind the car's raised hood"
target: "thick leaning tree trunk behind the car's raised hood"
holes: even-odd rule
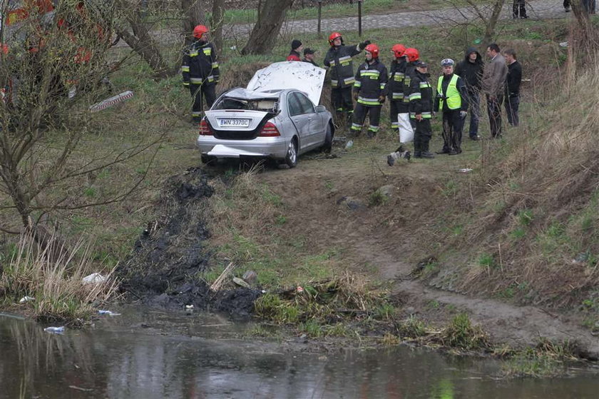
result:
[[[241,54],[267,54],[275,46],[287,9],[293,0],[263,0],[260,20],[255,24],[250,39]]]

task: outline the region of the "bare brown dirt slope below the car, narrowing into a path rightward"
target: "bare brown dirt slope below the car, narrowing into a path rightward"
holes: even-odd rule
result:
[[[469,143],[468,151],[477,151],[474,143]],[[260,180],[282,196],[293,234],[309,237],[315,248],[342,248],[345,258],[352,260],[350,267],[367,268],[384,281],[395,281],[394,294],[409,298],[406,308],[424,318],[445,321],[464,311],[496,343],[520,347],[534,345],[541,337],[576,341],[583,355],[599,358],[598,338],[568,315],[442,291],[410,278],[416,265],[404,259],[421,251],[411,227],[426,223],[429,215],[423,209],[439,198],[439,181],[465,163],[466,158],[446,157],[389,168],[382,153],[355,153],[332,160],[301,159],[297,168],[262,173]],[[368,206],[352,210],[340,201],[349,196],[367,205],[371,193],[386,184],[394,186],[395,203],[401,204],[394,210]],[[434,309],[431,303],[436,303]]]

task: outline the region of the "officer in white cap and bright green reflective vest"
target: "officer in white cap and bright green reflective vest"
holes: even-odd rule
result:
[[[441,61],[443,75],[437,81],[434,110],[443,111],[443,148],[437,153],[461,153],[461,135],[468,110],[468,91],[464,79],[454,74],[454,60]]]

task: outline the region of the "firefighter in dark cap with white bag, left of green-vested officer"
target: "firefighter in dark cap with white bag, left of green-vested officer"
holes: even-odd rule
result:
[[[414,121],[414,158],[434,158],[429,151],[433,136],[431,118],[433,114],[433,88],[429,83],[429,65],[423,61],[414,63],[414,74],[410,79],[410,118]]]

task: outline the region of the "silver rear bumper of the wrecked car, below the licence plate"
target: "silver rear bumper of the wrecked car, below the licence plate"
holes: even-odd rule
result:
[[[264,156],[285,158],[289,143],[283,136],[257,137],[252,140],[221,140],[214,136],[198,136],[200,153],[216,158],[239,158],[240,156]]]

